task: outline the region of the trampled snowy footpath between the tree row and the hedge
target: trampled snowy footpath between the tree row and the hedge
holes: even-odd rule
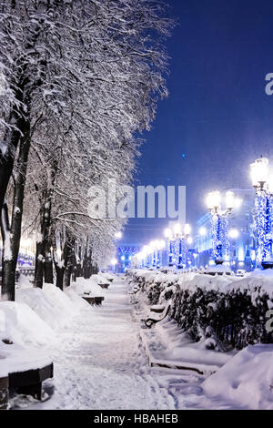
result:
[[[44,401],[21,396],[13,408],[230,408],[206,399],[200,387],[203,376],[149,367],[127,287],[126,280],[114,281],[102,306],[84,305],[72,326],[58,329],[56,344],[49,349],[55,376],[44,382]]]

